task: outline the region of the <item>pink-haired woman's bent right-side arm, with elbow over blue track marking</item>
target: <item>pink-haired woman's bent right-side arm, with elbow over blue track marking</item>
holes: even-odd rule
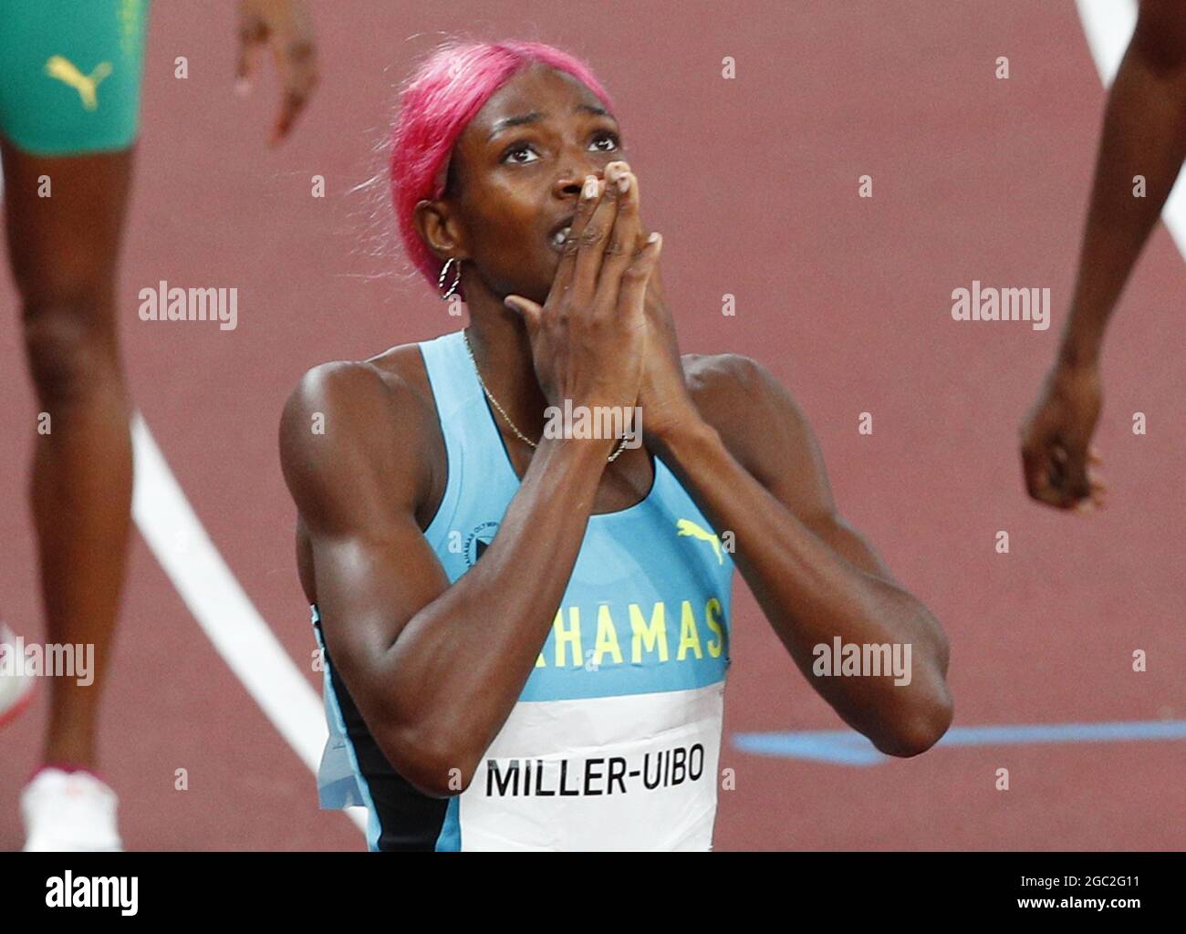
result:
[[[674,340],[651,362],[640,398],[648,446],[718,535],[733,533],[742,577],[816,691],[882,753],[925,751],[952,712],[938,621],[837,513],[820,447],[790,394],[733,354],[699,358],[686,382],[678,352],[667,350]],[[890,646],[906,660],[905,674],[834,677],[841,659],[817,659],[830,658],[836,639],[859,646],[862,659]]]

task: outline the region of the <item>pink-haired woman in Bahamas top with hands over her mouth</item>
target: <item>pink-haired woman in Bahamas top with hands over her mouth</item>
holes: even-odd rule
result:
[[[580,62],[442,46],[401,96],[390,181],[470,324],[317,366],[285,409],[321,802],[369,807],[371,849],[710,849],[734,563],[879,749],[950,723],[943,633],[837,514],[786,390],[680,354],[625,155]],[[644,443],[546,430],[566,405],[637,405]],[[837,646],[911,646],[910,672],[834,677]]]

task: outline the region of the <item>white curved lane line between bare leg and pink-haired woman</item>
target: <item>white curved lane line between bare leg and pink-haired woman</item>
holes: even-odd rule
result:
[[[185,606],[280,735],[317,774],[329,737],[325,710],[243,591],[168,469],[140,412],[132,420],[132,516]],[[350,808],[366,830],[366,810]]]

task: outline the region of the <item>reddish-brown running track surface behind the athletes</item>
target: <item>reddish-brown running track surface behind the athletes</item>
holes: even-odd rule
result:
[[[842,6],[842,8],[841,8]],[[956,7],[959,7],[958,9]],[[1104,92],[1071,4],[320,5],[324,84],[295,137],[263,146],[264,79],[231,95],[234,23],[153,11],[121,315],[134,397],[213,543],[315,684],[275,426],[300,373],[459,326],[371,255],[391,87],[441,32],[527,37],[586,57],[614,96],[686,351],[772,370],[821,439],[836,497],[952,644],[957,724],[1186,717],[1174,347],[1186,264],[1158,230],[1104,362],[1097,442],[1112,486],[1089,520],[1024,495],[1016,427],[1048,364],[1075,268]],[[645,9],[645,13],[643,12]],[[177,56],[190,77],[173,77]],[[1008,56],[1012,77],[994,62]],[[723,56],[737,81],[722,81]],[[327,197],[310,197],[311,177]],[[856,197],[856,179],[874,197]],[[1056,322],[956,324],[973,280],[1048,286]],[[151,324],[136,290],[236,286],[240,325]],[[721,295],[738,313],[720,314]],[[34,407],[0,286],[0,615],[39,635],[24,465]],[[874,417],[871,436],[857,417]],[[1149,434],[1134,436],[1135,411]],[[997,530],[1010,554],[994,551]],[[716,846],[1181,849],[1180,742],[936,749],[873,768],[765,759],[729,736],[840,725],[744,582],[734,590]],[[1131,653],[1149,670],[1131,671]],[[0,735],[0,849],[42,697]],[[103,721],[133,849],[358,849],[308,769],[210,647],[138,540]],[[994,788],[1008,768],[1012,789]],[[173,789],[186,768],[190,789]],[[1179,815],[1174,819],[1173,815]]]

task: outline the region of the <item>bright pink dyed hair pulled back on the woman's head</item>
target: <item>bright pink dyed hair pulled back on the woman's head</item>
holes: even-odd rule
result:
[[[400,115],[391,128],[391,203],[408,258],[433,289],[444,263],[416,232],[416,203],[444,196],[445,169],[458,136],[495,91],[535,63],[572,75],[613,110],[588,65],[541,43],[448,41],[413,72],[400,94]]]

